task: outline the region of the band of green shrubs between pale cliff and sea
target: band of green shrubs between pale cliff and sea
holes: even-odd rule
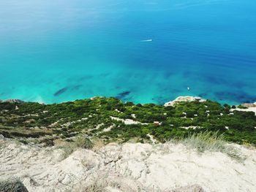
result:
[[[231,108],[214,101],[164,107],[104,97],[62,104],[0,102],[0,134],[23,143],[54,145],[56,140],[76,142],[81,135],[105,143],[150,142],[149,135],[165,142],[218,131],[226,141],[256,145],[255,113]],[[125,119],[132,123],[125,124]],[[84,145],[91,147],[90,142]]]

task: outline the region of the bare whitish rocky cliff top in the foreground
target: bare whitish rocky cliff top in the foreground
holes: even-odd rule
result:
[[[256,150],[238,145],[244,163],[170,143],[110,144],[76,150],[64,160],[55,147],[4,139],[0,146],[1,180],[19,177],[29,191],[173,191],[191,185],[194,191],[256,191]]]

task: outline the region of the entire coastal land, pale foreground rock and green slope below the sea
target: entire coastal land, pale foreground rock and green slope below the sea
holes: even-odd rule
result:
[[[1,101],[0,188],[255,191],[254,110],[189,96]]]

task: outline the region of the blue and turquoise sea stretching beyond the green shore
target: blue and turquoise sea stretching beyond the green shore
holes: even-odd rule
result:
[[[256,1],[0,1],[0,69],[0,99],[254,102]]]

